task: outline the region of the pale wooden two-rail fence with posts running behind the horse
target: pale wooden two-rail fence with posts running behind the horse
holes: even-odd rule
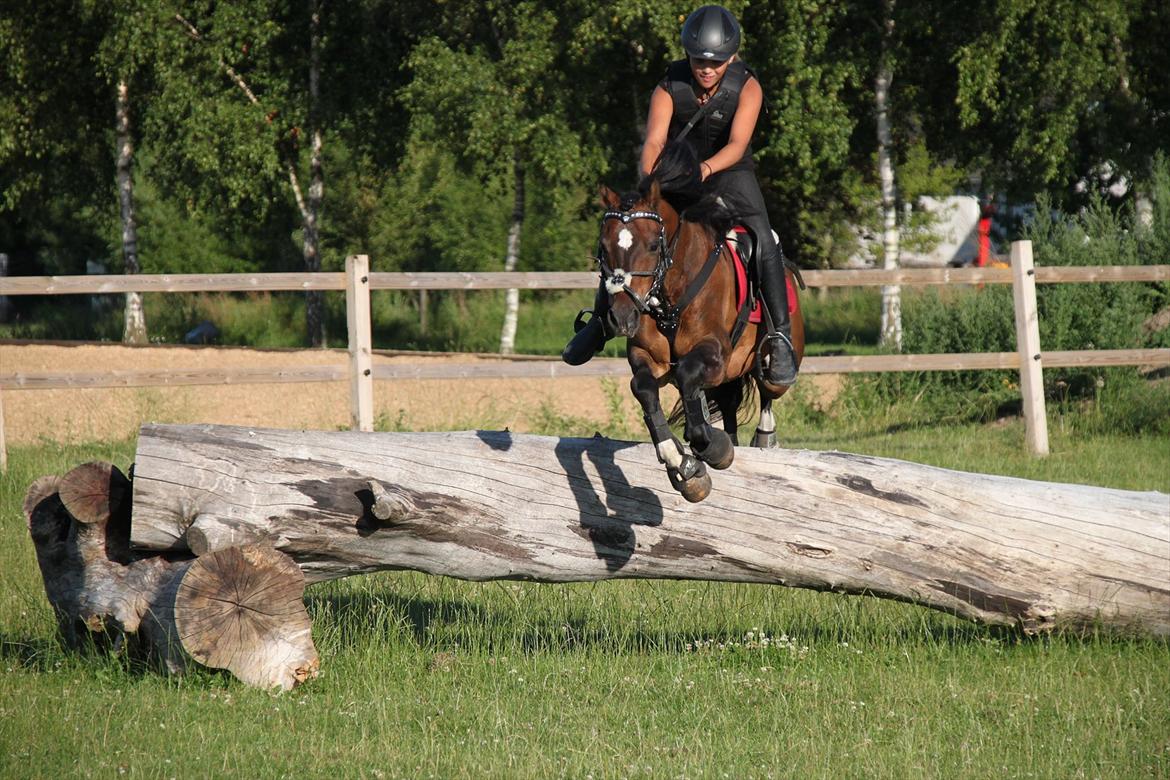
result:
[[[1041,352],[1035,304],[1037,283],[1170,282],[1170,265],[1103,265],[1035,268],[1032,244],[1012,244],[1011,268],[930,268],[896,270],[803,271],[810,287],[878,287],[937,284],[1012,284],[1016,303],[1016,352],[971,354],[889,354],[810,357],[801,372],[860,373],[889,371],[959,371],[1014,368],[1020,372],[1024,417],[1030,449],[1048,451],[1042,367],[1170,366],[1170,350],[1086,350]],[[345,291],[349,324],[349,367],[110,370],[101,373],[0,371],[0,468],[6,463],[2,392],[69,387],[149,387],[178,385],[267,384],[349,380],[352,427],[373,428],[373,381],[439,378],[625,377],[624,359],[594,359],[584,366],[559,360],[516,357],[504,365],[374,366],[370,327],[371,290],[566,290],[593,289],[592,272],[371,272],[365,255],[345,261],[345,271],[317,274],[208,274],[118,276],[25,276],[0,278],[0,295],[103,295],[123,292]]]

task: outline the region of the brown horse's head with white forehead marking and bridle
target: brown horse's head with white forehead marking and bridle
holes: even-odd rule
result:
[[[613,298],[610,324],[620,336],[638,332],[641,317],[662,303],[662,283],[670,268],[667,243],[679,229],[679,214],[662,198],[658,181],[649,191],[619,196],[601,187],[601,278]]]

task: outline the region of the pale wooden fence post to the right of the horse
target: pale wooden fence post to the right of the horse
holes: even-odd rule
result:
[[[1033,455],[1048,454],[1048,413],[1044,406],[1040,318],[1035,305],[1032,242],[1012,242],[1012,292],[1016,298],[1016,348],[1020,360],[1024,430]]]

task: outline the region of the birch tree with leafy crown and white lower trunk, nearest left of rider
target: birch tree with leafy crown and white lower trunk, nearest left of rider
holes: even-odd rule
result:
[[[512,207],[497,268],[515,270],[531,182],[556,200],[558,189],[564,193],[600,168],[599,153],[574,131],[577,111],[558,62],[565,28],[552,8],[488,2],[448,13],[445,37],[421,41],[411,55],[413,78],[404,101],[412,138],[450,150],[481,179],[510,179]],[[500,338],[505,354],[515,350],[518,302],[517,290],[505,294]]]

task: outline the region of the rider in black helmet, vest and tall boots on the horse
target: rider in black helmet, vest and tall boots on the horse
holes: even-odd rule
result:
[[[751,159],[751,136],[764,91],[736,57],[739,22],[727,8],[703,6],[690,14],[682,25],[682,48],[687,58],[670,63],[666,77],[651,96],[641,174],[647,175],[653,170],[667,140],[686,137],[702,160],[704,188],[718,194],[756,236],[760,292],[771,319],[771,330],[764,340],[764,354],[768,356],[764,379],[773,385],[792,385],[797,380],[797,361],[784,255],[768,221],[768,208]],[[696,113],[697,122],[693,123]],[[560,354],[565,363],[577,366],[587,361],[612,338],[605,325],[608,303],[603,283],[592,319],[581,325],[581,315],[578,315],[577,334]]]

